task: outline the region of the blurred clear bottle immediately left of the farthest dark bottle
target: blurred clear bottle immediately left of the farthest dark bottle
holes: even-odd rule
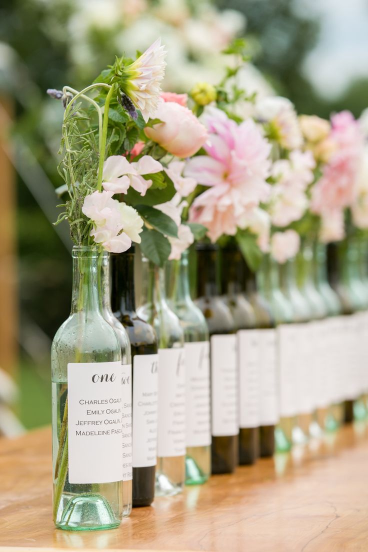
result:
[[[324,304],[327,310],[327,316],[329,319],[342,314],[342,305],[340,303],[337,293],[332,289],[328,282],[327,277],[327,246],[324,243],[320,243],[317,240],[313,245],[313,277],[314,285],[316,286],[319,295],[324,300]],[[336,385],[339,385],[339,374],[336,374],[337,363],[335,362],[335,327],[330,328],[330,335],[328,335],[328,362],[330,363],[331,373],[331,385],[334,389]],[[337,390],[338,392],[338,390]],[[325,429],[326,431],[333,432],[338,429],[344,421],[344,404],[336,400],[336,392],[333,393],[332,406],[328,408]]]

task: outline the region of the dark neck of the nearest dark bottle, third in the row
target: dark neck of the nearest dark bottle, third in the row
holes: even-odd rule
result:
[[[134,252],[111,254],[111,307],[122,314],[135,311]]]

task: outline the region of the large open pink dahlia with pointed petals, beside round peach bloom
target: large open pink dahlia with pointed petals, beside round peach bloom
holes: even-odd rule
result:
[[[209,107],[202,120],[210,133],[204,146],[208,155],[189,160],[184,174],[211,187],[195,199],[190,217],[216,241],[222,233],[234,235],[238,221],[268,199],[271,146],[250,119],[237,125]]]

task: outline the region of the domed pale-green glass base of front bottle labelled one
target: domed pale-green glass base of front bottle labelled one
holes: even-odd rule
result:
[[[120,523],[102,495],[83,493],[67,502],[55,526],[66,531],[96,531],[114,529]]]

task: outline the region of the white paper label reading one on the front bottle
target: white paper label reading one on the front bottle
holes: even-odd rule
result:
[[[68,479],[121,481],[121,362],[68,364]]]

